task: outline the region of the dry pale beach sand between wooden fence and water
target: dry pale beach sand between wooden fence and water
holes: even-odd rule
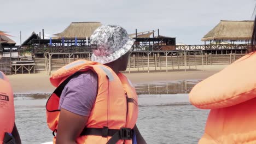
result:
[[[204,67],[198,66],[197,70],[169,70],[168,73],[162,70],[162,72],[154,73],[125,73],[125,75],[134,85],[173,80],[202,80],[216,74],[226,66],[228,65],[204,65]],[[54,91],[49,75],[46,73],[9,75],[8,78],[15,94],[52,93]]]

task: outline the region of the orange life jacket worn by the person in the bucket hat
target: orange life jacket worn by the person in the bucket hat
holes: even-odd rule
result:
[[[57,88],[46,103],[48,127],[53,131],[57,130],[60,95],[67,82],[75,74],[89,69],[98,76],[98,93],[86,128],[77,138],[77,143],[107,143],[108,140],[110,143],[123,143],[124,140],[125,143],[132,143],[131,129],[138,117],[135,88],[123,74],[117,75],[109,67],[91,61],[75,61],[57,70],[50,77],[52,85]],[[113,139],[110,139],[112,137]]]

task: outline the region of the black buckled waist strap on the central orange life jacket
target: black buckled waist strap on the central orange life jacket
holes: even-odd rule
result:
[[[103,128],[85,128],[80,136],[83,135],[97,135],[102,137],[112,136],[107,144],[117,143],[119,140],[131,140],[133,136],[133,129],[121,128],[121,129],[108,129],[108,127]]]

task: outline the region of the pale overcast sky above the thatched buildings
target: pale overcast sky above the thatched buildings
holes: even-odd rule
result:
[[[71,22],[100,21],[128,33],[160,29],[176,43],[203,44],[201,38],[220,20],[253,20],[255,0],[9,0],[0,1],[0,31],[20,45],[34,31],[62,32]]]

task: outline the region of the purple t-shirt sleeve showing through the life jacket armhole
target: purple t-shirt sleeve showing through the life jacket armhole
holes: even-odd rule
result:
[[[59,109],[89,116],[95,103],[98,77],[92,70],[73,77],[61,93]]]

